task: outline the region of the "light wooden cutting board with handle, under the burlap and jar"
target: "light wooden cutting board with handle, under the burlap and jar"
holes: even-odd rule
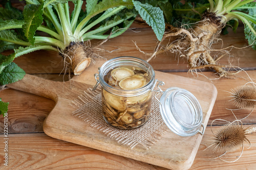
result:
[[[26,75],[23,80],[9,84],[8,87],[44,96],[56,102],[44,122],[44,131],[51,137],[170,169],[188,169],[197,154],[202,140],[201,134],[182,137],[169,130],[150,149],[146,150],[139,145],[131,149],[72,116],[75,109],[70,106],[71,101],[77,99],[85,89],[95,85],[94,74],[98,73],[98,67],[104,62],[99,60],[96,64],[91,64],[81,75],[65,83]],[[165,82],[165,89],[176,86],[193,93],[201,104],[203,124],[206,127],[217,97],[214,85],[159,71],[156,71],[156,78]]]

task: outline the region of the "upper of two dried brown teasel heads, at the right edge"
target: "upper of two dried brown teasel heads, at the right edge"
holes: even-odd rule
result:
[[[244,85],[232,90],[233,104],[240,109],[253,110],[256,105],[256,89],[254,86]]]

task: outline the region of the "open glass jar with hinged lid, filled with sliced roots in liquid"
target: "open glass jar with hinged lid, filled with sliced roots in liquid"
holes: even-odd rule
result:
[[[111,126],[126,130],[143,126],[150,117],[154,96],[164,123],[174,133],[181,136],[204,133],[203,113],[196,97],[179,87],[162,91],[160,86],[164,83],[155,80],[153,67],[140,58],[117,57],[106,61],[95,79],[95,87],[99,83],[102,87],[103,118]]]

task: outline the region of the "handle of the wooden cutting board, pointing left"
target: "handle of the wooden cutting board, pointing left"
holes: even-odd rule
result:
[[[60,83],[26,74],[22,80],[6,86],[56,101],[58,98],[58,87],[61,87]]]

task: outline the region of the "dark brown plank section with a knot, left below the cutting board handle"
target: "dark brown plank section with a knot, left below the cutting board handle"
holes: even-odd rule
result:
[[[4,102],[9,102],[8,133],[44,132],[42,124],[55,102],[38,95],[5,89],[0,92]],[[0,116],[0,134],[4,133],[4,117]]]

